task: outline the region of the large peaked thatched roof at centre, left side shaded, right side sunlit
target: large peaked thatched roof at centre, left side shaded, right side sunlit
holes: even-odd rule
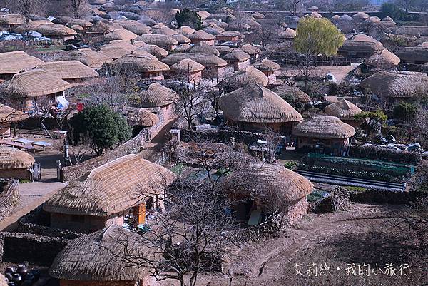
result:
[[[287,101],[257,83],[221,96],[218,104],[224,116],[233,121],[285,123],[303,119]]]

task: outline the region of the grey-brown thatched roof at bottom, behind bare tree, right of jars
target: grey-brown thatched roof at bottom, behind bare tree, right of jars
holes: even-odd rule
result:
[[[153,252],[137,233],[111,225],[71,240],[56,255],[49,275],[59,280],[130,282],[150,275],[143,267],[128,264],[123,258],[126,255],[151,259]]]

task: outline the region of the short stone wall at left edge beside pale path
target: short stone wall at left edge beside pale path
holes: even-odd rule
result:
[[[0,220],[6,218],[18,203],[18,180],[0,179]]]

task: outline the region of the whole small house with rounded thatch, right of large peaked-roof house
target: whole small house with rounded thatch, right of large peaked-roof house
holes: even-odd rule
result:
[[[322,153],[341,156],[347,151],[355,129],[335,116],[313,116],[295,126],[297,148],[308,148]]]

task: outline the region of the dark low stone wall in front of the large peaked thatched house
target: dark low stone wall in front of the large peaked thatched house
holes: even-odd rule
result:
[[[263,138],[263,134],[249,131],[214,130],[214,131],[194,131],[181,130],[181,141],[210,141],[213,143],[230,143],[234,138],[235,143],[251,144]]]

